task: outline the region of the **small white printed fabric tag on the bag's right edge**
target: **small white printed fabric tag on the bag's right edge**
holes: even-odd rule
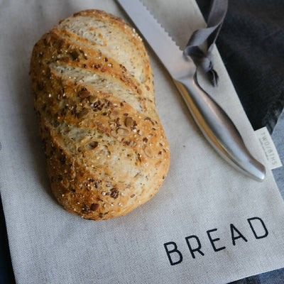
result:
[[[271,170],[282,167],[278,152],[267,128],[264,126],[262,129],[258,129],[254,132],[256,133],[258,141],[261,143],[261,147],[263,148]]]

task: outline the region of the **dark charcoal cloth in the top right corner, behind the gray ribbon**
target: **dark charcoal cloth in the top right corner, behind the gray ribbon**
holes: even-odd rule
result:
[[[209,0],[197,0],[207,18]],[[217,47],[253,129],[284,107],[284,1],[230,0]],[[222,80],[222,78],[220,78]]]

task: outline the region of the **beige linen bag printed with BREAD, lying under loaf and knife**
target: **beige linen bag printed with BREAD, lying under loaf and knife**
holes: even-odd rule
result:
[[[194,0],[144,3],[181,47],[204,26]],[[256,182],[214,152],[148,46],[171,149],[163,186],[125,217],[103,222],[81,219],[55,201],[33,112],[29,60],[45,31],[82,9],[128,19],[111,0],[1,1],[0,188],[17,283],[228,283],[283,267],[284,206],[271,171]],[[217,50],[214,56],[219,87],[201,76],[200,83],[265,163]]]

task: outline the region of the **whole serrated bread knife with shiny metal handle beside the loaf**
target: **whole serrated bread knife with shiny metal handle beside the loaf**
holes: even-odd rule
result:
[[[118,2],[170,73],[195,122],[209,143],[234,168],[254,180],[264,180],[266,168],[253,158],[241,134],[225,111],[200,87],[194,62],[188,55],[182,53],[141,1],[118,0]]]

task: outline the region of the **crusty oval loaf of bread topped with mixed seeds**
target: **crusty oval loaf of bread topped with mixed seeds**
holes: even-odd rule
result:
[[[155,195],[170,153],[131,26],[98,10],[60,21],[33,48],[31,86],[51,188],[67,211],[109,219]]]

